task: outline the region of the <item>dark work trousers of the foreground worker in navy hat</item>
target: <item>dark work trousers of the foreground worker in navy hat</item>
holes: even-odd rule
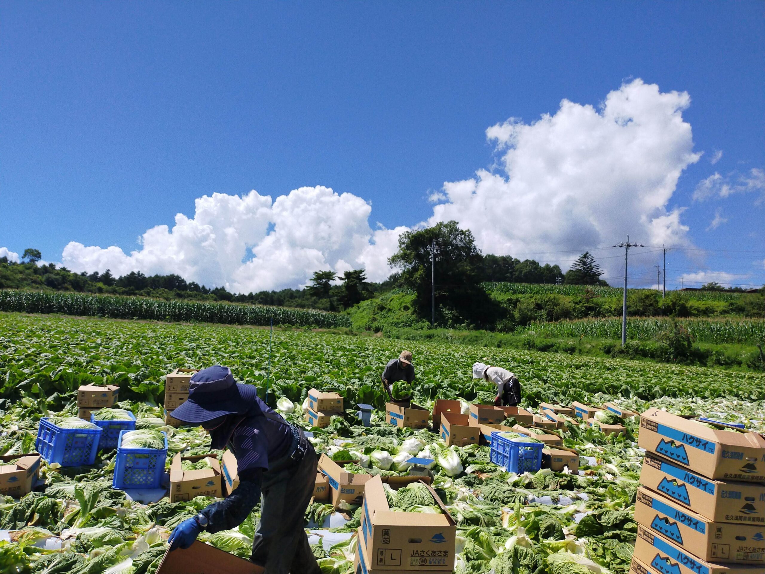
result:
[[[252,562],[265,574],[321,574],[308,536],[305,510],[314,495],[317,456],[313,445],[299,462],[290,454],[269,462],[263,473],[260,522],[252,543]]]

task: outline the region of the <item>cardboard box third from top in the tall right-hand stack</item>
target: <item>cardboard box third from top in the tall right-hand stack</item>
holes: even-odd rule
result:
[[[762,526],[713,522],[644,486],[637,489],[635,521],[706,561],[765,564]]]

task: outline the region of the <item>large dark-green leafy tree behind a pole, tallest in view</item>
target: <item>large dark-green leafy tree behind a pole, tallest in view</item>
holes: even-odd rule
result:
[[[435,246],[435,252],[433,252]],[[490,325],[496,318],[493,303],[480,286],[483,256],[473,233],[456,221],[437,223],[399,237],[399,250],[388,259],[400,269],[400,282],[416,293],[418,314],[431,316],[431,253],[435,256],[435,302],[441,325]]]

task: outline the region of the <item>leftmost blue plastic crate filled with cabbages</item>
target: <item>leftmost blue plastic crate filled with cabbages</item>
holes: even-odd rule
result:
[[[92,465],[98,454],[102,429],[61,429],[47,417],[40,419],[34,447],[49,465]]]

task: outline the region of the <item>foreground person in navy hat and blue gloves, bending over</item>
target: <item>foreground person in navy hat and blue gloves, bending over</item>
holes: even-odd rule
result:
[[[211,448],[227,445],[234,452],[239,486],[225,500],[178,524],[168,539],[170,550],[188,548],[202,530],[215,533],[239,526],[260,501],[252,563],[268,574],[321,574],[303,529],[317,466],[303,431],[266,406],[256,386],[236,383],[228,367],[195,373],[189,398],[173,416],[207,429]]]

